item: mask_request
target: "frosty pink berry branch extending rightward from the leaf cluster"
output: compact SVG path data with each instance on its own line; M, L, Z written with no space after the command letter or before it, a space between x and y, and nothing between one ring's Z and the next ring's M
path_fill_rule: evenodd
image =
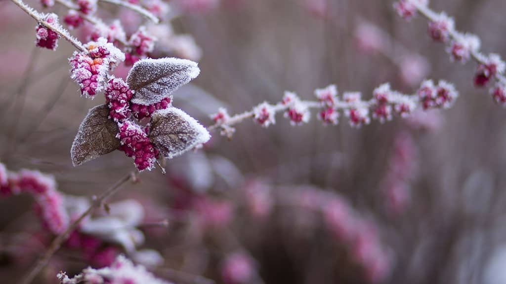
M437 85L431 80L424 81L411 95L392 90L390 84L385 83L374 89L372 98L367 101L362 100L360 92L345 92L340 99L335 85L316 89L314 94L317 101L303 101L296 93L286 91L283 100L275 105L264 102L250 111L234 116L222 108L211 116L215 124L208 129L220 128L221 134L230 138L235 131L233 126L243 120L252 118L268 127L276 122L275 115L279 112L284 113L290 124L300 125L309 122L310 109L318 110L318 119L325 125L338 124L342 112L351 126L360 127L369 124L371 116L383 123L392 120L394 114L407 117L417 108L449 108L458 97L453 85L443 80Z

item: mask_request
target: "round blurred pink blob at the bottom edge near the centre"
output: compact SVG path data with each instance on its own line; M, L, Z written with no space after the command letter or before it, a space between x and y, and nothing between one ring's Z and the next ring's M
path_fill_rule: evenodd
M223 281L227 284L247 283L255 274L255 264L242 252L233 253L222 265Z

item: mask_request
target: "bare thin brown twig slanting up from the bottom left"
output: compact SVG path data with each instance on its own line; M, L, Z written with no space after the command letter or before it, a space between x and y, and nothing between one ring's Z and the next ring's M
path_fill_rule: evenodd
M74 231L77 226L79 226L80 222L85 219L88 215L90 215L92 212L94 212L96 209L100 208L102 204L112 195L114 195L120 188L121 185L125 184L128 181L135 181L137 178L137 173L129 173L128 175L123 176L120 180L118 180L113 186L109 187L108 190L106 190L102 195L95 198L90 205L90 207L83 212L79 218L77 218L75 221L73 221L68 228L58 235L47 251L44 253L44 255L37 261L35 266L30 270L30 272L24 277L19 283L20 284L30 284L35 276L40 272L40 270L44 269L46 265L48 265L49 260L51 257L60 249L60 246L62 245L65 240L67 240L69 234Z

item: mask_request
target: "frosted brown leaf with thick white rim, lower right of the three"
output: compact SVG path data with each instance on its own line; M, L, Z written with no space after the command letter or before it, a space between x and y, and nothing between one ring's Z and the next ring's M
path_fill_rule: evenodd
M179 156L210 137L205 127L180 109L159 110L151 117L149 140L166 158Z

